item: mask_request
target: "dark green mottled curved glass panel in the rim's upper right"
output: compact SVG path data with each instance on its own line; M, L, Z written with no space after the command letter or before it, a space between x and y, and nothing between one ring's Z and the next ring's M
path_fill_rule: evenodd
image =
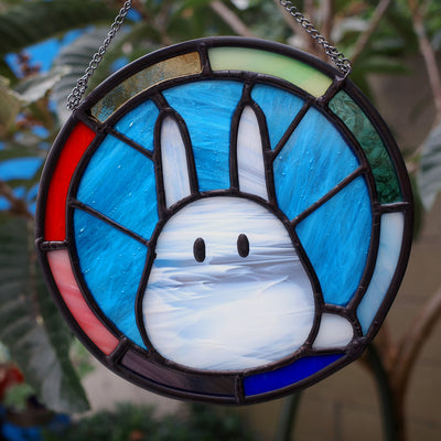
M367 116L345 92L335 95L330 101L330 109L343 120L362 146L374 174L379 202L390 204L402 201L392 161Z

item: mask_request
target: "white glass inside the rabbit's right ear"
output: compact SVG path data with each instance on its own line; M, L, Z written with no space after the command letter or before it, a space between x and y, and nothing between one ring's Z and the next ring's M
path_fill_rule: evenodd
M244 107L237 130L237 174L239 190L268 201L263 147L256 112Z

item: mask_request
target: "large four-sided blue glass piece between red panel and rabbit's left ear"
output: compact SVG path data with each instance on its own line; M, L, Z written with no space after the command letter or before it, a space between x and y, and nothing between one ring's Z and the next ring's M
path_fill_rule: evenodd
M149 239L158 223L153 162L107 136L83 174L77 198Z

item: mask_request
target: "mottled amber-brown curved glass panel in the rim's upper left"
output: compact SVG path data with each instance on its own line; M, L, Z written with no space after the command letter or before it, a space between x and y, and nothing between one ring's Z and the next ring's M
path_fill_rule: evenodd
M126 101L141 92L168 79L200 74L201 72L202 63L197 52L164 60L138 72L116 86L92 108L92 115L104 121Z

